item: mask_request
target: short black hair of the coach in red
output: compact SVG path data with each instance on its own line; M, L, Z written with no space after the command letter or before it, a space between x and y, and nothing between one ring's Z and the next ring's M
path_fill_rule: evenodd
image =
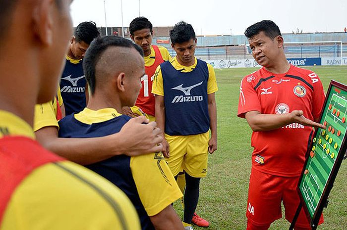
M282 36L280 28L275 24L275 22L270 20L263 20L257 22L246 29L244 35L251 39L253 36L259 34L261 31L265 33L270 39L274 39L277 36Z

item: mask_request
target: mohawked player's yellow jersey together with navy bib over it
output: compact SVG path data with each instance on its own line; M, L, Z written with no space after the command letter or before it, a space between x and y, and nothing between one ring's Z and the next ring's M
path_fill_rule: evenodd
M59 137L102 137L117 133L130 117L114 108L91 110L69 115L59 121ZM122 189L134 204L143 229L152 225L154 216L182 197L162 153L129 157L115 156L87 165ZM149 228L151 229L151 228Z

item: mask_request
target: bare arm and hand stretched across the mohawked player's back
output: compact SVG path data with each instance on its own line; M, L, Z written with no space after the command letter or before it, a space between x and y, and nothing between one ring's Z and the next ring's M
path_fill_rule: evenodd
M81 165L96 163L115 155L136 156L162 150L163 137L155 122L141 116L131 119L119 133L101 138L58 138L58 129L44 127L35 132L37 140L59 156Z

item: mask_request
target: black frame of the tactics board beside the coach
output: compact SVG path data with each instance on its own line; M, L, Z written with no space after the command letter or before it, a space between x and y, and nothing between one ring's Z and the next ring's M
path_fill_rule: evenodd
M319 117L319 121L321 121L321 119L322 119L322 116L323 116L323 113L324 113L324 109L327 106L328 97L329 97L329 95L331 93L331 89L332 89L333 86L338 88L338 89L341 89L341 90L347 92L347 86L346 85L344 85L342 83L339 83L339 82L336 82L334 80L332 80L330 82L329 89L328 89L328 92L326 94L326 99L324 101L324 105L323 105L323 108L322 108L322 113L321 113L321 115ZM318 131L318 129L315 129L313 137L316 137L317 131ZM302 168L302 172L301 172L301 176L300 176L300 179L299 179L299 183L297 185L297 191L298 191L299 197L300 197L300 205L299 205L300 209L301 209L301 206L302 206L303 209L305 210L305 213L306 213L308 219L310 220L310 224L311 224L312 230L316 230L317 226L318 226L319 219L320 219L320 217L322 215L322 212L323 212L323 208L325 208L327 206L327 200L328 200L329 193L330 193L331 189L333 188L336 176L337 176L338 171L340 169L341 163L342 163L342 161L344 159L344 155L345 155L346 150L347 150L347 144L346 144L346 136L345 136L344 139L342 140L340 151L339 151L338 155L336 156L336 162L335 162L335 164L334 164L334 166L332 168L332 172L331 172L331 174L330 174L330 176L329 176L329 178L327 180L327 184L326 184L326 186L325 186L325 188L323 190L321 199L319 200L319 203L317 205L316 211L314 212L313 217L311 218L311 216L309 214L309 211L308 211L308 208L306 206L306 203L304 201L304 198L303 198L303 196L301 194L301 191L300 191L300 184L301 184L301 181L303 179L305 168L306 168L307 162L308 162L309 157L310 157L309 153L310 153L310 149L312 148L312 143L313 143L313 141L311 141L311 143L310 143L310 145L309 145L309 147L307 149L307 152L306 152L306 160L305 160L304 167ZM296 222L295 217L294 217L293 222L294 223ZM292 226L294 226L294 223L292 223Z

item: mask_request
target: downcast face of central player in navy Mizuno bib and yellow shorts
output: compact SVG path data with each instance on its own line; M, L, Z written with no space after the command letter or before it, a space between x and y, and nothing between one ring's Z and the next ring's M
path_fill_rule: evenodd
M183 66L191 66L194 64L196 41L196 39L190 39L188 42L175 43L171 45L174 51L176 51L176 58L179 64Z

